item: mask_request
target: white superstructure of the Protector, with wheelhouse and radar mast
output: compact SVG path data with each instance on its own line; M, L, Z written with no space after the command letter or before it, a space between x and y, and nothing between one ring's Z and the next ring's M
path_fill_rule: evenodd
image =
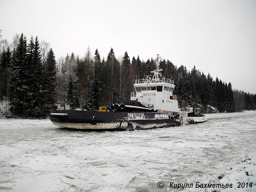
M148 103L154 105L154 108L159 112L179 113L177 96L173 95L172 92L175 88L174 81L161 77L159 65L161 57L157 54L155 63L156 70L151 71L154 73L145 76L144 79L135 80L133 84L136 92L131 93L131 100L140 101L141 103Z

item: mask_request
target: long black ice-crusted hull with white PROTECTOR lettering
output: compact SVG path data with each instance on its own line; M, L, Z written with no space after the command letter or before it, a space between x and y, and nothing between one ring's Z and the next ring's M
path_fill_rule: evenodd
M99 112L51 110L54 125L72 129L151 129L179 126L182 123L157 112Z

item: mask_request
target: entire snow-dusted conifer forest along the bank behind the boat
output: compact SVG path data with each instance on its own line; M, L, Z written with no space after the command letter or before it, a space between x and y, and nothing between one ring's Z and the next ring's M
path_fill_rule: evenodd
M49 109L98 110L116 99L130 99L135 79L152 75L154 59L130 59L128 52L116 57L113 48L106 58L98 49L88 47L82 58L73 52L56 60L50 43L24 34L16 35L13 43L1 40L0 100L6 102L6 116L45 117ZM173 94L180 106L213 106L220 112L256 109L256 94L233 90L223 82L194 66L176 67L162 60L165 78L174 80Z

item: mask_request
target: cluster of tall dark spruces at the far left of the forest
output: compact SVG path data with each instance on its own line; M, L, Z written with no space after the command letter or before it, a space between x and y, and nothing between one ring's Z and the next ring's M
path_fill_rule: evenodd
M41 117L55 105L55 56L50 49L42 60L37 36L27 43L21 34L12 51L3 47L0 68L0 96L7 98L10 115Z

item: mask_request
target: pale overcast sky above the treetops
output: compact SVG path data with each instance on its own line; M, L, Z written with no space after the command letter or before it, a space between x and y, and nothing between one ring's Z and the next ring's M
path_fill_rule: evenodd
M233 89L256 93L255 0L0 0L2 39L15 34L49 42L56 60L90 46L101 58L155 58L194 65Z

